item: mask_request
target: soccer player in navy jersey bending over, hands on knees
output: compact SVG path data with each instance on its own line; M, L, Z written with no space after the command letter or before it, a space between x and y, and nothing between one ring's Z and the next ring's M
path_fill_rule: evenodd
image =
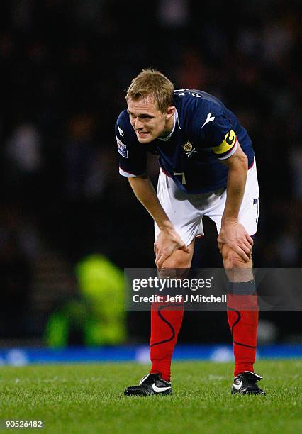
M230 287L227 313L235 355L231 391L264 394L257 385L262 377L253 369L258 308L252 235L259 189L250 137L216 97L174 90L155 69L143 69L133 79L126 101L128 109L116 122L119 170L155 221L157 269L189 269L194 240L203 235L203 216L216 223ZM147 176L147 152L159 155L157 194ZM242 294L243 303L238 301ZM182 318L181 304L172 310L152 306L150 374L126 388L125 395L172 394L171 360Z

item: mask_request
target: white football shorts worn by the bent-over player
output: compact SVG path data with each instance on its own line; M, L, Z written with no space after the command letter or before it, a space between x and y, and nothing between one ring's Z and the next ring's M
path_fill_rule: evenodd
M203 216L210 217L216 223L217 232L220 232L221 218L226 200L225 187L213 193L187 194L177 187L172 178L160 170L157 196L175 230L186 245L189 245L196 236L204 235ZM254 161L254 164L247 172L245 194L239 212L239 222L250 235L257 232L258 215L259 186L256 162ZM155 239L159 232L160 230L155 223Z

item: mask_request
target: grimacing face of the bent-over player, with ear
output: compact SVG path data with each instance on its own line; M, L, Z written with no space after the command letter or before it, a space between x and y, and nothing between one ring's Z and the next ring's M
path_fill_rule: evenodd
M140 143L150 143L161 135L167 135L173 128L174 111L175 108L171 106L167 112L162 113L156 104L147 98L128 101L130 123Z

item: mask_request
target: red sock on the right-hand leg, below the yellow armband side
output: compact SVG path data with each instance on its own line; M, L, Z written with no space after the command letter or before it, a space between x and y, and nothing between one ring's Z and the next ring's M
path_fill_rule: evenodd
M234 377L236 377L243 371L254 372L258 325L257 296L228 294L227 304L235 356Z

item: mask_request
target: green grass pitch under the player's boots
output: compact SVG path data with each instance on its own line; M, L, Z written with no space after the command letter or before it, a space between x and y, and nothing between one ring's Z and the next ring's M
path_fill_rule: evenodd
M43 433L302 433L301 368L259 361L267 396L233 396L233 364L174 362L174 395L138 398L123 390L146 365L1 367L0 419L42 420Z

